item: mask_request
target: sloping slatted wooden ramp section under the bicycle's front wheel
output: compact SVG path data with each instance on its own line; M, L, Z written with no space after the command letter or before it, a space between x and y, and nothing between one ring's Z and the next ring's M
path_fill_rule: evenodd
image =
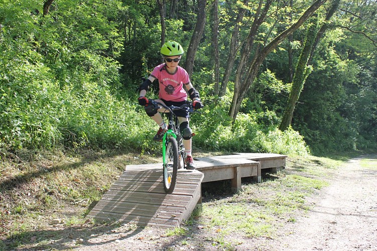
M178 226L201 200L203 176L196 170L179 170L174 192L166 194L162 164L127 166L87 217L144 226Z

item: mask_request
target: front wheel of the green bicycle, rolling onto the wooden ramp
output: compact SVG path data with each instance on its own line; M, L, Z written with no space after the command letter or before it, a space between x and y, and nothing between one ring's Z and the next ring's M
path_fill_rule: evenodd
M177 172L179 164L179 153L177 140L173 137L166 139L168 141L163 166L163 183L166 193L172 193L177 182Z

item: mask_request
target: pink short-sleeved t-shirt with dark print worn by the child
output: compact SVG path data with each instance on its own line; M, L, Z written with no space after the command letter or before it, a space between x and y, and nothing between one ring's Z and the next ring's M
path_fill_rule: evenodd
M165 68L165 64L160 64L152 71L152 76L159 80L159 97L167 101L184 101L187 93L183 89L184 84L190 83L190 78L185 69L177 66L177 71L170 74Z

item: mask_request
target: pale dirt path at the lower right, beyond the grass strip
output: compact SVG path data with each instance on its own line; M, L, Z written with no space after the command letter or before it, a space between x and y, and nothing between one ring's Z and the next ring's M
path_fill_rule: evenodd
M267 249L377 250L376 160L363 156L339 169L315 208Z

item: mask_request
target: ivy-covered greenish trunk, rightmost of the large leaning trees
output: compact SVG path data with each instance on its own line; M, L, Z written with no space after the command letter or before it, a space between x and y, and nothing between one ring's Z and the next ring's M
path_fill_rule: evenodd
M287 130L287 128L291 124L296 102L300 97L300 93L304 87L305 80L311 72L312 68L309 67L307 63L309 60L312 46L314 44L316 28L317 18L314 18L306 33L305 45L302 49L299 61L296 66L295 76L293 77L292 89L289 94L287 107L285 109L283 119L279 127L281 131Z

